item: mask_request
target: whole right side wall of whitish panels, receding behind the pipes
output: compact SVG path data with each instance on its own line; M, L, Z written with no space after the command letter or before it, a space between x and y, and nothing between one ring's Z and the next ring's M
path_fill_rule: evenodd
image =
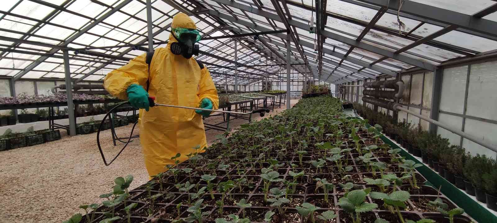
M473 63L444 68L442 72L442 88L440 90L440 107L438 120L455 129L474 135L481 140L497 145L497 94L493 87L497 85L495 77L497 61ZM382 76L377 80L395 79L392 76ZM409 110L429 117L431 113L433 72L416 71L402 73L400 76L405 83L404 94L400 103ZM371 78L350 81L346 85L362 85L363 81L375 81ZM359 95L356 97L357 89ZM362 102L362 86L346 86L344 98L358 102L370 108L372 104ZM387 89L388 90L388 89ZM388 99L387 99L388 100ZM393 100L391 100L393 101ZM394 112L378 107L378 112L393 115ZM423 130L428 130L428 122L406 112L398 112L398 121L406 121L412 125L420 124ZM473 155L485 154L497 157L497 153L484 148L472 141L445 129L437 128L437 133L449 139L452 145L461 146Z

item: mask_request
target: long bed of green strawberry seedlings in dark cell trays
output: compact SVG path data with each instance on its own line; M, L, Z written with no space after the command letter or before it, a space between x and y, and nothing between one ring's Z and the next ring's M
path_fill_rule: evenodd
M358 128L353 132L353 128L361 127L363 123L341 116L341 111L338 99L309 98L299 101L281 116L244 125L206 152L195 155L195 159L171 166L161 176L132 190L127 203L138 204L131 213L132 222L186 221L197 207L205 212L200 217L202 223L214 223L218 218L224 219L218 221L231 221L233 216L230 215L248 218L250 222L264 222L268 212L275 213L269 218L272 223L309 223L310 215L315 216L316 222L323 223L318 216L326 211L336 214L332 222L351 223L351 215L341 204L342 198L366 191L361 201L376 206L361 213L362 223L374 223L378 218L398 223L399 216L413 221L429 217L439 223L448 223L442 214L433 212L435 209L426 208L426 204L438 198L448 208L457 206L437 189L425 185L426 179L415 167L407 167L409 162L402 161L398 150L388 148L378 139L378 131ZM333 154L343 156L332 159ZM339 162L350 167L340 169ZM383 163L385 167L382 171L372 171L371 163ZM294 178L296 173L301 176ZM387 181L383 186L372 183L386 175L404 178ZM239 183L243 181L246 182ZM223 186L231 184L233 187ZM192 186L187 189L188 185ZM324 185L330 186L328 193ZM212 190L200 193L203 187L212 187ZM280 192L287 189L288 193L279 194L278 189ZM384 206L384 199L377 199L377 196L381 194L379 192L390 196L394 191L407 193L407 197L401 201L405 207L392 214L391 206ZM192 198L197 193L198 197ZM158 197L152 202L154 195ZM278 196L288 199L281 203L281 208L264 198ZM241 204L243 199L250 205ZM316 210L310 212L313 214L302 214L301 209L308 205ZM115 210L123 207L121 204ZM109 208L103 206L97 209L95 221L103 219L103 212L107 210ZM126 216L122 211L117 215ZM470 222L465 216L457 218L459 223ZM126 220L120 221L124 222Z

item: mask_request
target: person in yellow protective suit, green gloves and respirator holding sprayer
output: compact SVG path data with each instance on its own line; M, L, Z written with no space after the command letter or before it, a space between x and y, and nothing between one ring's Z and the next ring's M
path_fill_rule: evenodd
M147 54L143 54L105 76L104 87L110 94L141 108L140 144L151 177L166 171L167 164L174 164L170 158L176 153L181 153L178 159L184 161L195 151L193 148L207 147L202 116L208 116L209 111L149 108L148 101L150 95L160 104L218 109L219 99L209 71L192 58L192 54L198 54L194 43L200 40L196 29L186 14L176 14L169 42L155 50L150 73Z

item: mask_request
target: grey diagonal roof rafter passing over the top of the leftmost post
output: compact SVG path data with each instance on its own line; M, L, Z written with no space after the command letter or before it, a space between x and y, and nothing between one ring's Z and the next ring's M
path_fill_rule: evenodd
M73 42L75 39L77 39L78 37L80 37L81 35L83 35L84 33L86 33L88 30L90 30L91 28L95 27L98 23L100 23L104 19L106 19L109 16L111 16L112 14L114 14L114 12L116 12L116 11L120 10L122 7L126 6L131 1L132 0L124 0L120 4L116 5L110 11L108 11L107 13L105 13L102 16L98 17L93 23L90 23L89 25L87 25L86 27L84 27L83 29L81 29L79 32L77 32L74 35L72 35L71 37L69 37L61 45L67 46L68 44L70 44L71 42ZM55 54L57 51L59 51L59 49L53 49L53 50L51 50L49 52L49 54ZM41 64L42 62L44 62L48 58L49 57L47 57L47 56L40 57L40 59L36 60L36 62L33 62L26 69L24 69L24 71L22 71L22 72L20 72L20 73L18 73L16 75L14 75L13 81L18 80L19 78L21 78L22 76L24 76L25 74L27 74L28 72L30 72L31 70L33 70L36 66L38 66L39 64Z

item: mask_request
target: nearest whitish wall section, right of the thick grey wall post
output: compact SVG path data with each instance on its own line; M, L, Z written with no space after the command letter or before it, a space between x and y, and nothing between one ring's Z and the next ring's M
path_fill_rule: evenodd
M439 121L497 145L497 61L445 68ZM442 128L437 133L473 155L497 153Z

